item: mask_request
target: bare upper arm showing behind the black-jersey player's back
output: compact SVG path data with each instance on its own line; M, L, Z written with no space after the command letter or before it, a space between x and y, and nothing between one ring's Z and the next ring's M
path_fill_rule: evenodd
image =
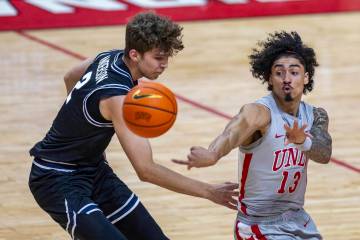
M77 81L84 75L86 69L90 66L90 64L94 61L94 58L88 58L82 61L80 64L76 65L72 69L70 69L64 76L64 82L66 87L66 92L69 94L71 90L74 88Z

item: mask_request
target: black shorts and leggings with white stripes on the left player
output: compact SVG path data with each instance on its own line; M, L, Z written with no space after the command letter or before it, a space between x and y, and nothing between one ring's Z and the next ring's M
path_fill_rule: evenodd
M29 187L73 239L168 239L106 161L77 167L35 158Z

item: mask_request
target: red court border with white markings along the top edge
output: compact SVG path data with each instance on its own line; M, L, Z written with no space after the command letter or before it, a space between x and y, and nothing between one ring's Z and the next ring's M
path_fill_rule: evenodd
M124 24L153 10L177 21L359 11L359 0L3 0L0 30Z

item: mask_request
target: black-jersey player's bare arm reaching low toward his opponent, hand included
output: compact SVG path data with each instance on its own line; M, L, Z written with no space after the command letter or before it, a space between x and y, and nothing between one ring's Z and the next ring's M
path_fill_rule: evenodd
M207 184L185 177L153 161L152 150L146 138L132 133L125 125L122 116L124 96L102 100L102 115L113 122L116 135L127 157L142 181L147 181L169 190L191 196L206 198L214 203L236 210L238 184Z

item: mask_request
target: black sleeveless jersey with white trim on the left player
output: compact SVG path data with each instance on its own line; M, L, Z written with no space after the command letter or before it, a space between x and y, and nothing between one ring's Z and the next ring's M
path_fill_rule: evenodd
M96 164L115 133L99 102L126 95L137 82L122 60L123 51L100 53L68 95L45 138L30 155L76 165Z

